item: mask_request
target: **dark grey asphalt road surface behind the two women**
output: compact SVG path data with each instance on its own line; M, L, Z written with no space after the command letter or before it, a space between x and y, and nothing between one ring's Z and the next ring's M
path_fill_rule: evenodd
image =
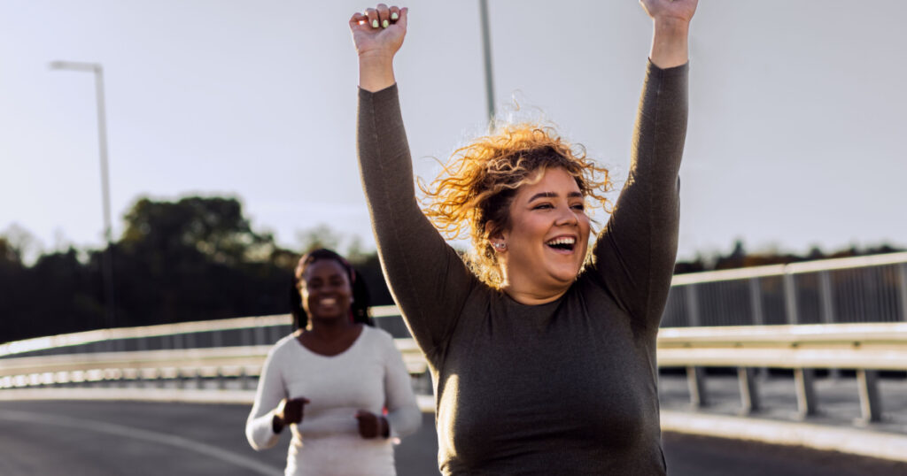
M255 452L245 405L0 403L0 475L280 474L289 438ZM907 475L907 463L752 442L664 435L673 476ZM396 448L400 476L438 474L434 415Z

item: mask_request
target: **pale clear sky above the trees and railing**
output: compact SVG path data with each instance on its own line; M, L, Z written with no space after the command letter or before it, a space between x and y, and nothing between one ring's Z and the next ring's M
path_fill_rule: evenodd
M636 2L490 0L501 117L555 124L618 179L649 53ZM396 78L414 170L487 126L478 1L412 0ZM140 197L241 199L299 246L374 246L356 165L347 0L0 0L0 233L102 246L102 63L113 233ZM907 246L907 3L702 0L691 25L678 257ZM607 219L600 214L598 219ZM40 246L41 248L38 248Z

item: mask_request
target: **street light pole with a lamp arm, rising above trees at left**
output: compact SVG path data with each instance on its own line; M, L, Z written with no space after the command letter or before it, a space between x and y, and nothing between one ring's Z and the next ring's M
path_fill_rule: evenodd
M101 195L104 215L104 238L107 249L102 259L104 299L107 301L107 326L116 325L116 293L113 281L113 231L111 224L111 190L107 166L107 116L104 104L104 70L99 63L54 61L53 70L83 71L94 73L94 91L98 105L98 151L101 155Z

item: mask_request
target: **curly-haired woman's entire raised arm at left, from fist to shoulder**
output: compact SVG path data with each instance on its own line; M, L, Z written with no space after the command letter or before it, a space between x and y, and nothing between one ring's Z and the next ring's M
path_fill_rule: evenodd
M356 148L387 284L416 342L434 364L477 280L415 199L393 68L406 16L405 8L378 5L350 19L359 53Z

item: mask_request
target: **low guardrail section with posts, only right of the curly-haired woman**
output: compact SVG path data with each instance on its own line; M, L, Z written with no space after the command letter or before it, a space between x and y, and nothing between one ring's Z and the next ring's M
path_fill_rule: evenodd
M878 371L907 370L907 323L664 328L658 366L687 369L696 406L708 403L703 367L736 367L744 413L761 406L756 368L792 369L802 416L818 413L814 369L855 370L863 421L879 422Z

